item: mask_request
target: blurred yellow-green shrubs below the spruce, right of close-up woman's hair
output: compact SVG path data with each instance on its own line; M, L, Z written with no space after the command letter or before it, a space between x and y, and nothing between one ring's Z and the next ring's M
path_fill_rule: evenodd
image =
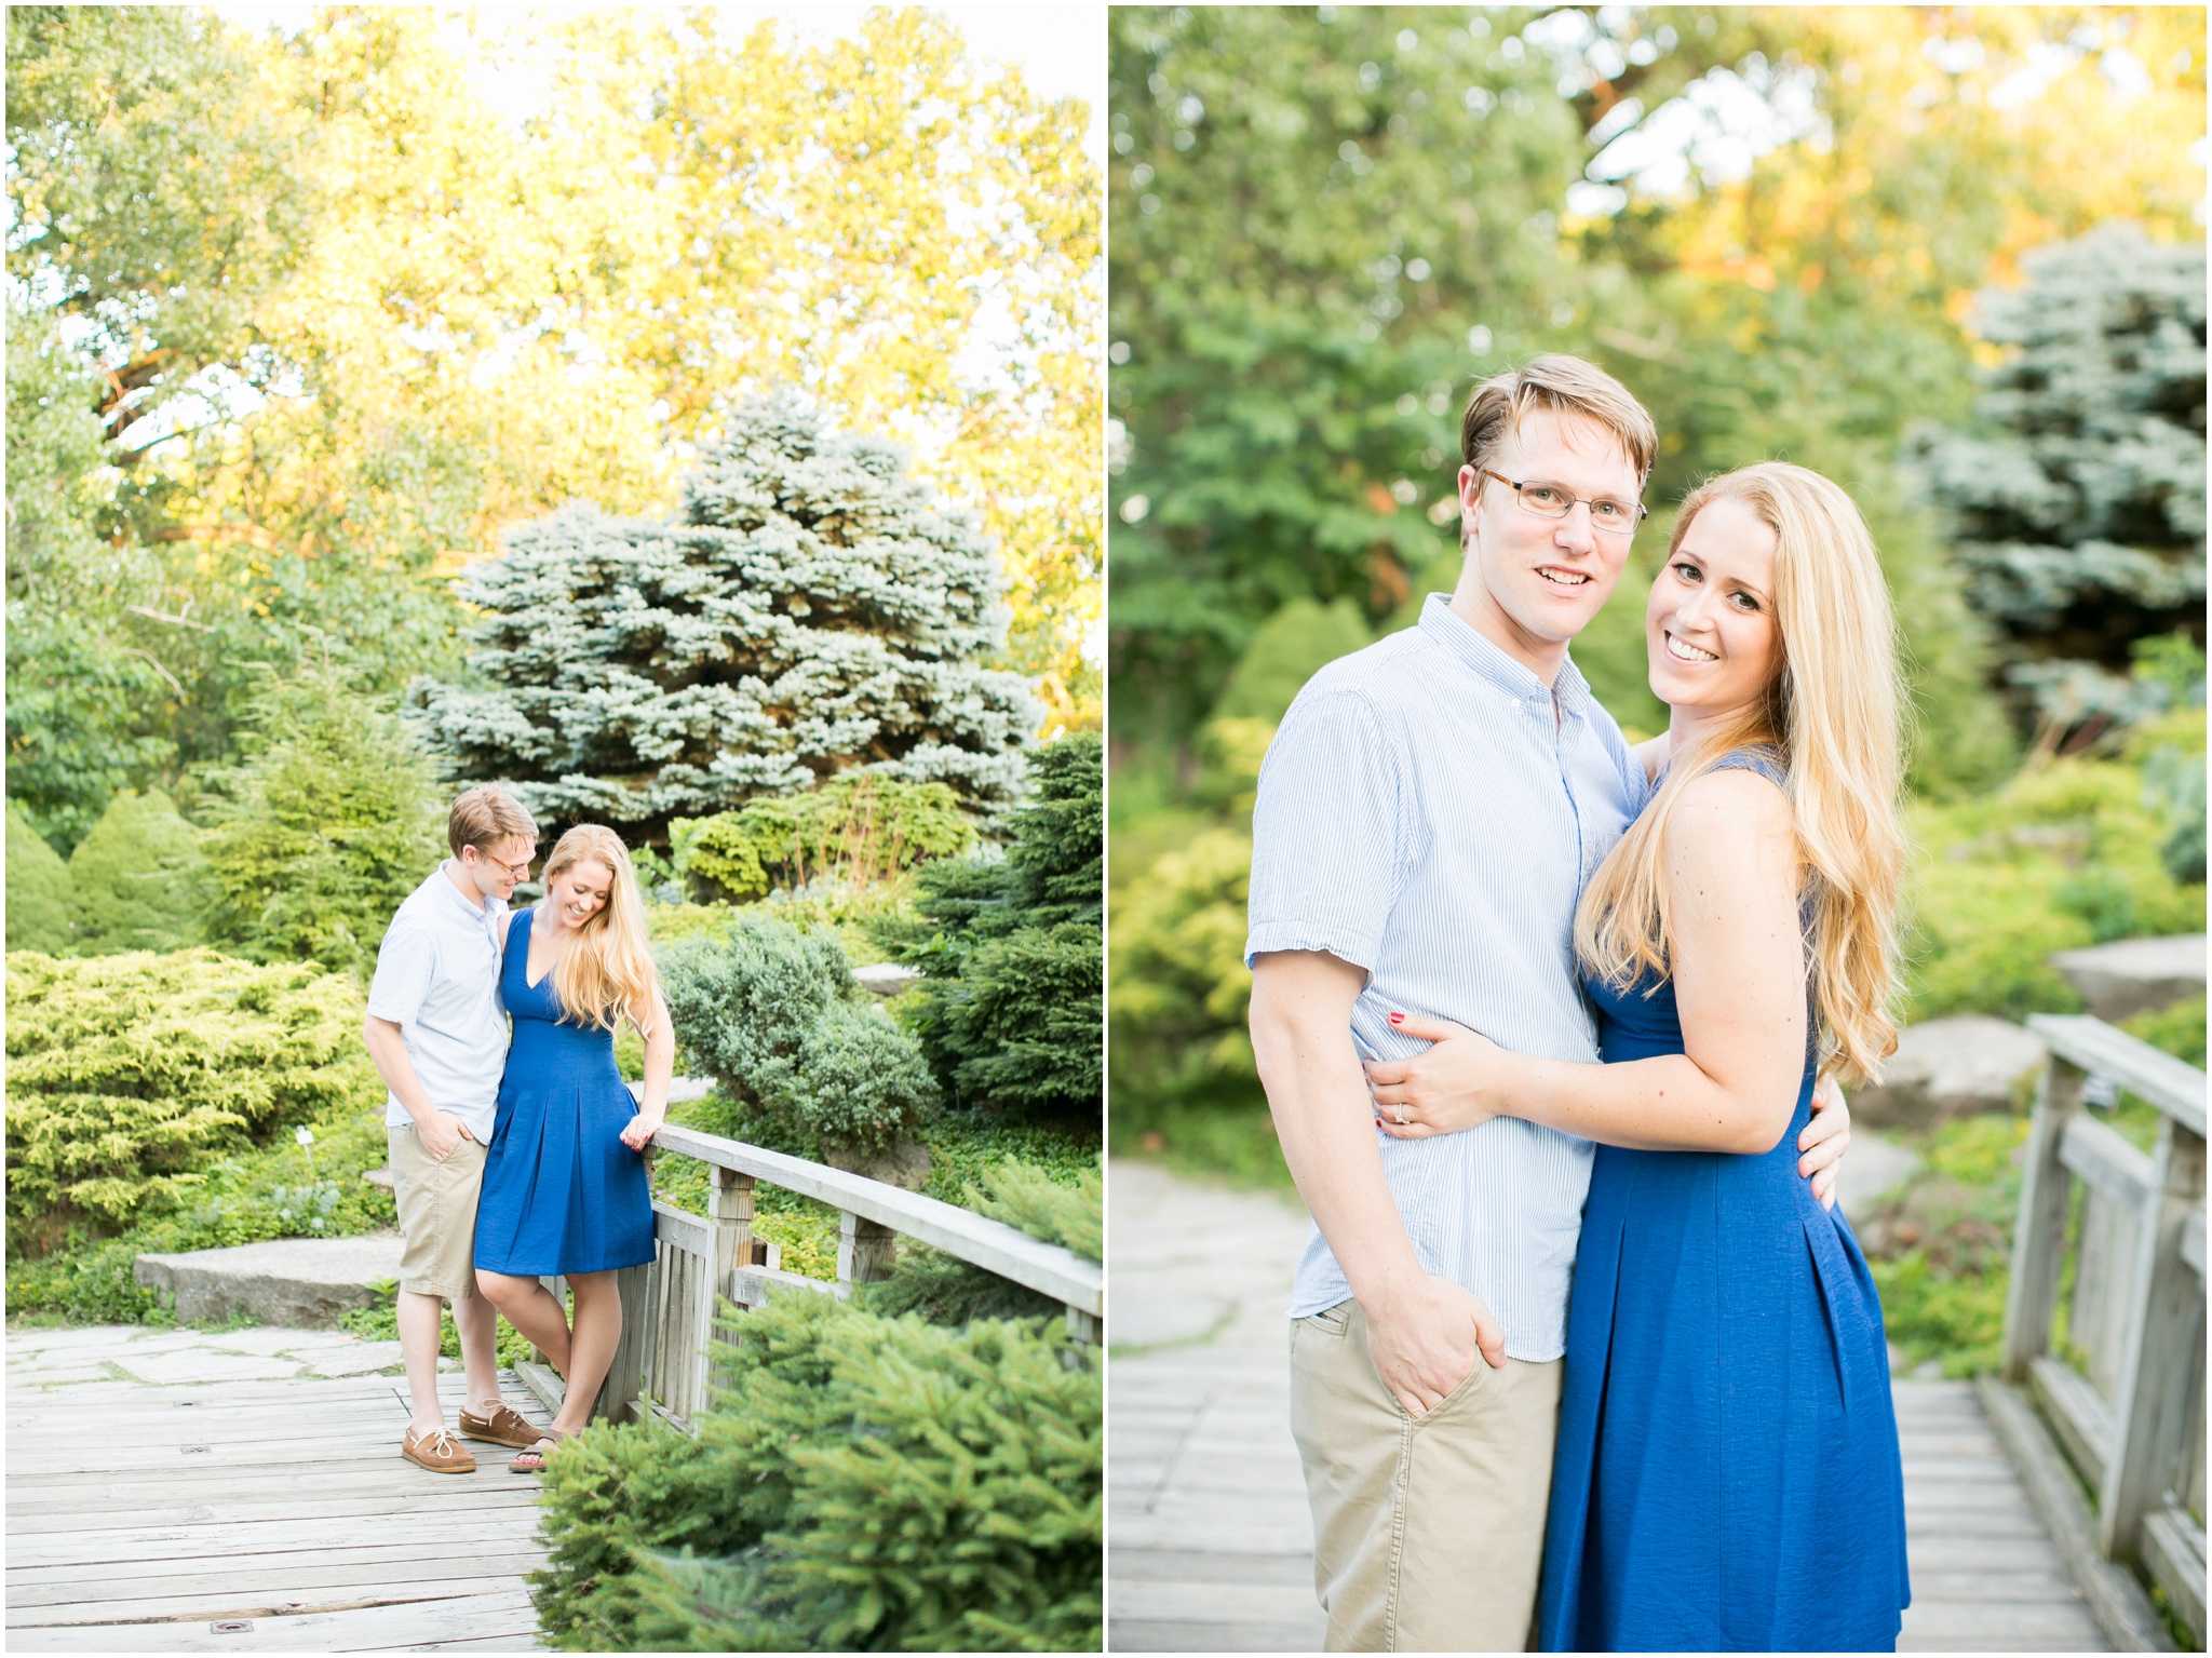
M2203 710L2143 736L2201 754ZM2168 836L2126 758L2053 760L1982 798L1920 805L1907 1017L2073 1012L2081 999L2051 968L2053 951L2201 931L2203 886L2166 869Z

